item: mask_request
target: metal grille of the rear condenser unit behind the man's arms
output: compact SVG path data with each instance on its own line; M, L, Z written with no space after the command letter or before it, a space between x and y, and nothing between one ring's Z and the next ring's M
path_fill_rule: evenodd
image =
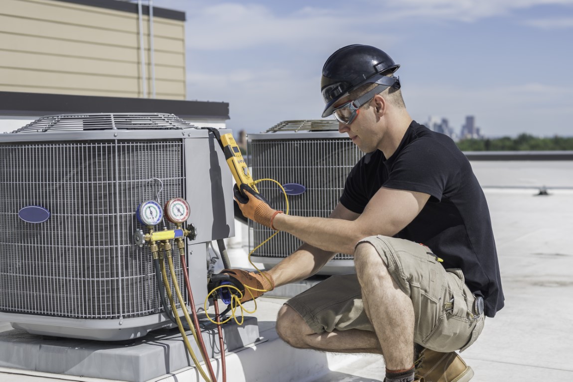
M328 217L335 208L346 176L363 155L350 140L342 137L282 140L269 137L251 140L248 151L254 179L270 178L280 184L304 185L307 190L303 194L289 197L290 213L317 217ZM261 182L257 188L274 208L285 210L284 196L273 182ZM253 233L249 237L249 250L274 232L252 221L249 228ZM253 256L286 257L301 244L291 234L279 232ZM338 253L334 260L352 258L350 254Z

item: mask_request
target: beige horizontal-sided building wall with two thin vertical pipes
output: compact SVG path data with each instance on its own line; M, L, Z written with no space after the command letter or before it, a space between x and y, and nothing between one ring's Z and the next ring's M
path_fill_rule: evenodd
M147 2L144 2L147 3ZM57 0L1 0L0 91L151 97L149 17ZM185 100L184 21L154 16L155 97Z

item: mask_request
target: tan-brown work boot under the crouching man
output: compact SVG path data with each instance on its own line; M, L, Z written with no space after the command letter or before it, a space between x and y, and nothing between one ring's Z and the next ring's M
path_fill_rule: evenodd
M425 382L468 382L473 370L456 352L440 353L423 349L415 361L415 378Z

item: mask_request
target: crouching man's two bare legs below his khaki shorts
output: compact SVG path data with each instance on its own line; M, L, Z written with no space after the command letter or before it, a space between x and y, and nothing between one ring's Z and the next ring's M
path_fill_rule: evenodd
M375 332L350 329L316 334L299 313L283 305L278 313L278 335L297 348L383 353L388 369L409 369L414 360L412 302L394 282L386 264L372 245L359 244L354 258L364 309Z

